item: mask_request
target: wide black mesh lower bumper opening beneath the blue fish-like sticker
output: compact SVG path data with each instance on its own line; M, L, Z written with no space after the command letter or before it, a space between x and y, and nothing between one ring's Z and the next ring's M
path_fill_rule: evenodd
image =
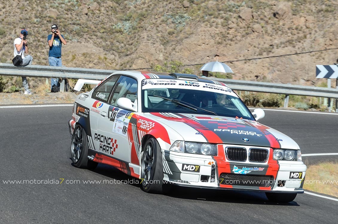
M273 176L267 175L243 175L221 173L219 175L220 184L239 185L251 187L271 187L274 182Z

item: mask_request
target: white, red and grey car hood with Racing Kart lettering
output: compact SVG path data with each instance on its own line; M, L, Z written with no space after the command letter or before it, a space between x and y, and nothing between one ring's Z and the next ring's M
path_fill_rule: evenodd
M253 120L177 113L150 113L149 116L169 126L185 141L299 149L287 135Z

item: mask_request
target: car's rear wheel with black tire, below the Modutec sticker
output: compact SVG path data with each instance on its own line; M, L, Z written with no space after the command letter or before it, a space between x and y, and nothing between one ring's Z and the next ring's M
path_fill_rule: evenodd
M83 169L95 169L97 166L97 162L88 160L88 139L86 131L81 127L81 125L77 124L75 126L73 135L72 135L72 143L70 147L70 154L73 165L78 168Z

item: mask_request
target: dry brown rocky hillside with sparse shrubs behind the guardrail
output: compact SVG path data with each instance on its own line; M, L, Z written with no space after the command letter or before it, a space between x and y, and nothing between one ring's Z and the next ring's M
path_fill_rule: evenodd
M10 63L21 27L33 64L48 65L47 35L67 40L63 64L102 69L233 61L338 47L333 0L0 1L0 61ZM227 63L234 79L314 85L316 64L337 50ZM190 66L200 74L201 66ZM151 69L148 69L151 70Z

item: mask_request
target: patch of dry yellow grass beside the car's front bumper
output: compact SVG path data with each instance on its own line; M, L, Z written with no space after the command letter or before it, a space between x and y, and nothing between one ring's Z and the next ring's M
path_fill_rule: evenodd
M325 162L308 167L304 189L338 197L338 163Z

